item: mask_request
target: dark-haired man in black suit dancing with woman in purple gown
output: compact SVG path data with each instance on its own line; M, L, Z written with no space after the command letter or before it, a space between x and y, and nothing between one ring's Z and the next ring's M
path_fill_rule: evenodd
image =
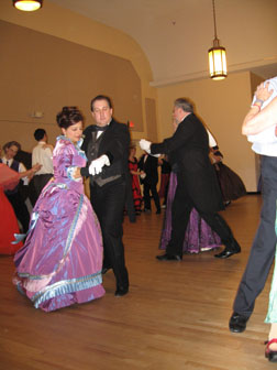
M109 97L97 96L91 100L90 108L97 124L91 124L84 131L82 149L89 166L81 168L81 175L90 175L90 202L103 236L103 273L113 269L117 280L115 296L122 296L129 292L122 224L125 202L132 192L128 167L130 132L126 124L112 118ZM132 207L133 200L128 207L133 221Z

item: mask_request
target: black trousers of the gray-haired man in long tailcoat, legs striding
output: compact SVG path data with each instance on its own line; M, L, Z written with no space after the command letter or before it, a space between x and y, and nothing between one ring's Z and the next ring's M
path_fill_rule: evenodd
M168 254L182 254L182 242L193 207L196 208L182 184L178 184L171 208L171 238L166 248ZM211 229L220 236L222 243L231 248L234 237L226 221L215 211L203 211L201 209L197 209L197 211Z

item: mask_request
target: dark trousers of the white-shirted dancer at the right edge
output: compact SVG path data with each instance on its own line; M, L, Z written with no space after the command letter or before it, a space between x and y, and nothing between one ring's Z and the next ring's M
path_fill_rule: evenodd
M276 251L277 157L262 156L263 207L248 262L234 301L234 312L250 317L263 291Z

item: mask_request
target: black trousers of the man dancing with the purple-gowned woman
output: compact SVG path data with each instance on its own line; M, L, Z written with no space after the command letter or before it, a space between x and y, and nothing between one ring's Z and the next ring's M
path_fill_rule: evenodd
M126 184L124 179L103 186L90 185L90 202L99 219L103 237L103 268L112 268L117 287L129 286L123 237L123 211Z

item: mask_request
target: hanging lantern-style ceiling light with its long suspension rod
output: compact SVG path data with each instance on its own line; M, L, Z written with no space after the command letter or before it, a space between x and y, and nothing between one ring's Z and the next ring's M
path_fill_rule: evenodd
M223 79L226 77L226 51L225 47L220 46L220 41L217 34L215 23L215 8L214 0L212 0L213 7L213 24L214 24L214 40L213 47L209 48L209 70L212 79Z

